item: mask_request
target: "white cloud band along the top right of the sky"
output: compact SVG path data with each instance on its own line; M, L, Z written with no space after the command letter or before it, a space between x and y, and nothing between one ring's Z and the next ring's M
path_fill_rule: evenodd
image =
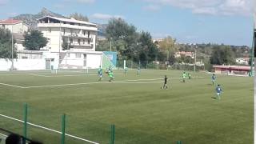
M175 6L194 14L242 15L253 14L253 0L142 0L150 6ZM143 7L143 9L145 9Z

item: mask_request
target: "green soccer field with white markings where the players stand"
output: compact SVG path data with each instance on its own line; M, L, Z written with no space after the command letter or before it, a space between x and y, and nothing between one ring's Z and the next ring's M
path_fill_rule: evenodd
M222 98L214 99L211 75L190 73L181 82L179 70L114 71L98 82L97 70L24 71L0 73L0 114L98 143L184 144L253 143L254 79L217 75ZM164 75L171 88L162 90ZM0 116L0 127L22 134L22 122ZM60 134L28 126L27 135L44 143L60 143ZM90 143L66 137L66 143Z

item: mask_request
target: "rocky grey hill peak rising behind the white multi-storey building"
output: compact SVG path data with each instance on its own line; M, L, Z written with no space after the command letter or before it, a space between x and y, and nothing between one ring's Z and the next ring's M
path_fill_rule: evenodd
M50 10L47 10L46 8L42 8L42 10L38 14L20 14L14 17L14 19L24 21L27 25L30 26L30 29L37 29L37 19L45 16L66 18L61 14L56 14Z

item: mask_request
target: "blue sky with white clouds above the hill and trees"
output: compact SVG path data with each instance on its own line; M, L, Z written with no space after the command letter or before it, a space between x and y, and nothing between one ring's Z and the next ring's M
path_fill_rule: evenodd
M43 7L90 22L123 18L153 38L171 36L182 43L252 46L254 0L0 0L0 19L38 14Z

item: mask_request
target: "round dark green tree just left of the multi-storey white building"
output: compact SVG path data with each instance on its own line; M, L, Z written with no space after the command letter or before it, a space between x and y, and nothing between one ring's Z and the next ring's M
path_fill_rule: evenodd
M42 33L38 30L31 30L30 33L26 32L24 35L25 41L22 43L26 50L40 50L40 48L46 46L47 38L42 36Z

